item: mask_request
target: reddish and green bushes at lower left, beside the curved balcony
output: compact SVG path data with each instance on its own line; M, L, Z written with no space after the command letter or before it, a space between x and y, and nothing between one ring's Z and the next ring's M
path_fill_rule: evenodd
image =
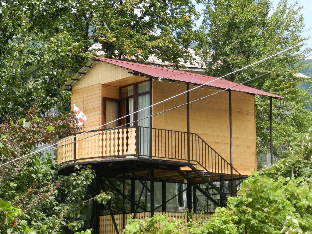
M18 121L8 117L0 124L2 162L32 152L37 143L55 142L64 134L80 131L73 113L59 118L40 118L37 114L31 109ZM60 176L51 154L33 154L2 165L0 197L14 207L15 216L12 221L8 211L1 212L0 233L23 233L17 227L24 230L26 226L38 234L83 230L88 224L84 199L94 176L90 167L76 167L69 176ZM108 197L102 194L99 199L105 202Z

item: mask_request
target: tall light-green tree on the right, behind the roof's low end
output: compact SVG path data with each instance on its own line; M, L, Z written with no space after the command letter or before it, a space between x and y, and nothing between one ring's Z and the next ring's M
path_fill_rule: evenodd
M207 0L201 31L204 37L198 49L207 66L207 74L223 76L248 64L304 41L299 32L304 26L300 7L281 0L272 11L270 0ZM304 52L308 52L305 50ZM300 46L265 62L236 72L225 79L246 81L303 57ZM285 99L273 100L273 154L284 157L285 150L296 147L312 122L311 96L298 87L310 79L298 78L296 64L246 83L275 93ZM266 153L269 146L269 99L256 97L257 150Z

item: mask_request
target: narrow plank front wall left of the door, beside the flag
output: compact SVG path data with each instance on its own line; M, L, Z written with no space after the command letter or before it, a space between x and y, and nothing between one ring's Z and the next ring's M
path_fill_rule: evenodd
M91 70L90 70L91 71ZM83 111L87 120L83 125L84 131L101 125L102 95L101 84L91 85L85 88L72 90L71 108L75 104Z

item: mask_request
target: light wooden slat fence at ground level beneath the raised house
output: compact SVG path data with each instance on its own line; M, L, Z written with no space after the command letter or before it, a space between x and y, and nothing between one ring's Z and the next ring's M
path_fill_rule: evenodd
M156 214L168 215L169 221L171 222L173 218L178 220L184 220L187 222L186 213L182 212L155 212ZM144 220L146 217L150 217L150 212L138 212L136 214L136 219ZM133 216L132 214L125 214L125 223L127 222L129 216ZM192 213L192 218L198 219L199 217L208 218L210 214L198 214ZM115 222L118 228L119 234L122 233L122 214L114 215ZM115 234L115 227L110 215L102 215L100 216L100 234Z

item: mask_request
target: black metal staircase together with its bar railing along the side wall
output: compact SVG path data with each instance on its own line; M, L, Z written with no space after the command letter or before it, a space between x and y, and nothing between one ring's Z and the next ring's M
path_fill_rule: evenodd
M243 179L235 168L208 145L198 134L139 127L142 135L151 138L151 154L140 156L184 162L177 172L207 198L208 210L225 206L228 196L236 196ZM150 132L151 131L151 132ZM150 143L149 143L150 144ZM149 148L149 147L146 147ZM146 152L144 150L144 152Z

